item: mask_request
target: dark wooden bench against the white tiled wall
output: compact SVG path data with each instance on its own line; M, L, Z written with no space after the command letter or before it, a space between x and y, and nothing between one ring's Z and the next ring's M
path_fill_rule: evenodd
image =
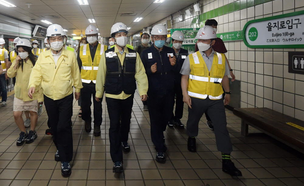
M304 121L269 108L235 108L233 114L242 119L241 134L248 135L248 125L304 153L304 131L286 124L304 127Z

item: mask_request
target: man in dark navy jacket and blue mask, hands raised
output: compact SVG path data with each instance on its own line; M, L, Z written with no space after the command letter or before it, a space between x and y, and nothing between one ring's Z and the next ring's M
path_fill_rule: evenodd
M172 116L174 101L175 52L173 48L164 46L167 39L167 28L158 24L152 28L153 45L144 50L141 60L148 77L148 105L151 125L151 139L155 145L156 161L164 162L164 131Z

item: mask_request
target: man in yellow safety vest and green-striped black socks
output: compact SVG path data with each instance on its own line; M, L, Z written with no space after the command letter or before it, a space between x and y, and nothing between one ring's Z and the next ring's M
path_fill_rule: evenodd
M230 160L232 144L224 107L230 101L230 71L225 55L212 49L216 38L216 31L211 26L200 28L195 37L199 51L186 57L180 72L183 101L187 103L189 112L188 151L196 152L199 121L207 111L213 121L217 149L222 152L222 170L231 176L242 176ZM223 89L226 92L224 100Z

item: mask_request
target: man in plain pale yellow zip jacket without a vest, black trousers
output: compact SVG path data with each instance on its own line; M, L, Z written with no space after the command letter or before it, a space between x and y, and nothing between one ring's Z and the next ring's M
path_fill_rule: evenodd
M61 174L70 175L73 157L71 117L73 115L73 86L75 99L80 96L81 77L72 51L63 48L64 31L60 25L47 28L47 41L51 50L40 54L29 78L29 97L35 88L43 88L44 104L52 126L55 160L61 161Z

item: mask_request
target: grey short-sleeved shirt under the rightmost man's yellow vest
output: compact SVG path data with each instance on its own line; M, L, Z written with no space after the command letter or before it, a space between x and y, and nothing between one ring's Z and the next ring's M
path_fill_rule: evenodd
M211 55L208 56L208 57L202 51L200 51L199 53L202 55L202 57L203 57L203 59L204 59L204 61L206 63L206 66L208 68L208 71L210 71L211 67L212 67L212 63L213 63L213 56L214 56L214 54L216 54L216 52L214 50L212 50ZM229 71L227 60L225 59L225 61L226 62L225 62L225 74L224 75L230 75L230 71ZM181 67L181 72L180 73L182 75L190 75L190 71L191 71L191 69L190 69L190 60L189 60L189 56L187 56L186 59L185 59L185 61L184 61L183 66Z

